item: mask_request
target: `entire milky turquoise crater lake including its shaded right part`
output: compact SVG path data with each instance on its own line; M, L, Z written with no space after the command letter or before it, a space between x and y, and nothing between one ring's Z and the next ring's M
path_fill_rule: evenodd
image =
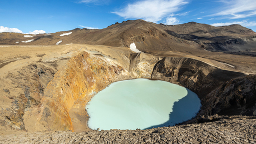
M93 130L144 130L189 120L200 106L188 88L139 78L112 83L92 97L86 110Z

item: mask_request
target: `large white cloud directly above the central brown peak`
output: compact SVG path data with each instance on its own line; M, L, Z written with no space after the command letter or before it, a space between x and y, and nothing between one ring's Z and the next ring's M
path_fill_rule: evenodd
M135 18L157 22L168 17L171 13L178 12L181 6L187 3L188 0L141 0L130 3L125 8L112 13L125 19Z

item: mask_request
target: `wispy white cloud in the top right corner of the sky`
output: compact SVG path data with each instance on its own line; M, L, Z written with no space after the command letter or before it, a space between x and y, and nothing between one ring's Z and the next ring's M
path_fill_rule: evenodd
M256 1L255 0L221 0L227 4L223 7L223 11L212 14L211 16L229 16L229 19L246 18L256 15Z

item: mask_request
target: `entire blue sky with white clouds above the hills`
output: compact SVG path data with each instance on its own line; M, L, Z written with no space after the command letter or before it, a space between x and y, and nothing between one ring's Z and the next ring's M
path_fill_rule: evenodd
M241 24L256 31L256 0L2 0L0 32L53 33L115 22Z

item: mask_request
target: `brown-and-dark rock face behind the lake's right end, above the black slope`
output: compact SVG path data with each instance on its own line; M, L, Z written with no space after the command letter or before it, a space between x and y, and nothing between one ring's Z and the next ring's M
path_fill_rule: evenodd
M191 58L163 58L152 72L151 78L177 83L203 98L220 84L243 73L225 71Z

